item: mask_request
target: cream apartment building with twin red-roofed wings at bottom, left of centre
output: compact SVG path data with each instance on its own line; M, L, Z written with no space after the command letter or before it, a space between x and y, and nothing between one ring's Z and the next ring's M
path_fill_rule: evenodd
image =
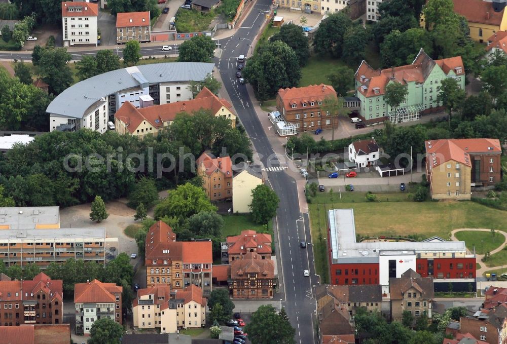
M133 317L134 327L160 328L161 333L201 327L206 324L206 298L193 284L184 290L158 285L140 289L133 302Z

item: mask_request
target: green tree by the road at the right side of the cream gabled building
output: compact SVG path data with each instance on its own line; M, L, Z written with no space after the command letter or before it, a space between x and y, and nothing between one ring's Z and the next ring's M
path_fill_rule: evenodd
M267 224L276 215L279 202L278 196L268 185L256 186L252 190L252 203L248 205L253 221Z

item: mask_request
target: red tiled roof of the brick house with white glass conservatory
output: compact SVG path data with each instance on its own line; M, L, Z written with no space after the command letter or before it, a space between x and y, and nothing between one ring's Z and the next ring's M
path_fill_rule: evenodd
M285 109L292 108L292 104L296 104L297 108L303 108L303 103L307 103L305 108L315 108L317 104L315 104L315 106L311 106L310 103L312 101L314 103L324 101L327 97L337 99L333 86L324 84L285 89L281 88L278 90L278 95L280 96Z

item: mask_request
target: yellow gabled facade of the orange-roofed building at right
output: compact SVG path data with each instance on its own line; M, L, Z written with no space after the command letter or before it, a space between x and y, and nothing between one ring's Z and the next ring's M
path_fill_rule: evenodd
M428 170L431 198L434 200L469 200L472 168L449 160Z

